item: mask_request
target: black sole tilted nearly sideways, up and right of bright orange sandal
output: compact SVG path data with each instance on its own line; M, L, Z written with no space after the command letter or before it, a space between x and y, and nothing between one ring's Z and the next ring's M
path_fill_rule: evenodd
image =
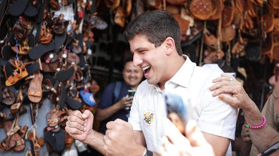
M54 43L50 42L49 44L39 44L30 49L28 55L31 60L37 60L41 58L44 54L52 51L54 49Z

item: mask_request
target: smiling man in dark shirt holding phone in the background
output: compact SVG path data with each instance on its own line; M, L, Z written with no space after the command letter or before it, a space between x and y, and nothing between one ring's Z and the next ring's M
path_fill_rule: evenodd
M102 93L96 110L95 119L101 122L99 131L103 134L105 134L107 122L114 121L117 118L128 121L133 101L133 96L127 97L128 90L136 90L143 77L141 68L133 65L133 58L126 59L122 74L124 82L108 84ZM117 97L114 97L117 88L119 88L118 94Z

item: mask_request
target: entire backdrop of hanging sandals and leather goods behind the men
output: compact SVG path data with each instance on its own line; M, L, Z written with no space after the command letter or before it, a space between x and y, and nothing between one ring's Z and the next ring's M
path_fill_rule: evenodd
M155 9L176 18L182 47L194 45L201 66L221 61L228 71L231 59L279 61L279 0L0 0L0 153L66 155L78 148L64 128L73 110L96 104L99 86L88 61L93 32L124 28Z

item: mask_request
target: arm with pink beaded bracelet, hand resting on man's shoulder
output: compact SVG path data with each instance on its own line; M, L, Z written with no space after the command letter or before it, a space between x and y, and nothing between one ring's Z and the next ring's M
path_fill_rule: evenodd
M228 81L232 78L232 81ZM215 90L213 96L219 96L220 99L230 105L243 109L246 122L251 126L259 126L263 123L263 117L256 104L244 90L242 84L233 77L222 74L221 77L213 80L218 82L210 90ZM230 94L229 94L230 93ZM279 134L268 124L259 129L249 129L252 142L259 152L279 141Z

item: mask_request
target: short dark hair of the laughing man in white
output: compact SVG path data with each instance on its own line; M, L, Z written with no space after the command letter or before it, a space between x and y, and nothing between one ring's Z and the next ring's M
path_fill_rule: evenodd
M144 35L155 47L162 45L167 37L172 37L177 53L181 56L181 30L175 18L165 10L154 10L142 13L131 21L125 31L126 40L132 40L136 35Z

